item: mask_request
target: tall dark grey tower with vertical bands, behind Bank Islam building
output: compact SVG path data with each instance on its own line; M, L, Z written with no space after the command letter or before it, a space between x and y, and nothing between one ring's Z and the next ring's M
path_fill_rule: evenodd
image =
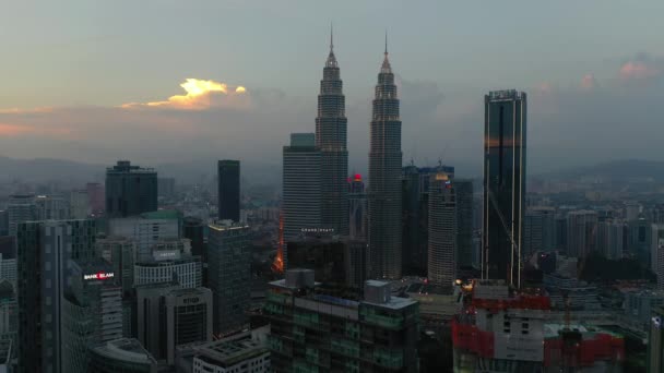
M93 260L93 220L17 226L20 372L62 371L62 299L69 260Z

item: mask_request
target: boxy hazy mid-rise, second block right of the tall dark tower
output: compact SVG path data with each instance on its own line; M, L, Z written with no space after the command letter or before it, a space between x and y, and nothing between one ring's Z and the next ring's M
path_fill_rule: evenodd
M583 258L596 250L597 213L580 209L567 214L567 255Z

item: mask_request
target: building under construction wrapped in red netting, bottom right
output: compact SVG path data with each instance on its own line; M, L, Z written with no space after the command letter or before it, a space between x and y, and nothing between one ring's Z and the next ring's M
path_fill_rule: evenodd
M476 280L451 323L454 372L622 372L621 336L554 322L550 300Z

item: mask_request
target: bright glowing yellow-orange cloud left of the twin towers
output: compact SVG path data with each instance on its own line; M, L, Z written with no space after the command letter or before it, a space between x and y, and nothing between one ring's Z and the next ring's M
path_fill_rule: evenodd
M185 83L180 84L180 87L187 92L186 95L170 96L166 101L123 104L121 105L121 108L130 109L138 107L158 107L185 110L202 110L212 106L211 96L213 94L236 96L242 95L247 92L247 88L241 85L230 88L225 83L203 81L193 77L187 79Z

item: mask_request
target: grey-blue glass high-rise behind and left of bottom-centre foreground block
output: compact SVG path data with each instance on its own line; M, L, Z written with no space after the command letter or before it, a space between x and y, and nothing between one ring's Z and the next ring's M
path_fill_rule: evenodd
M251 300L251 231L244 225L211 224L208 285L214 303L214 333L241 330Z

